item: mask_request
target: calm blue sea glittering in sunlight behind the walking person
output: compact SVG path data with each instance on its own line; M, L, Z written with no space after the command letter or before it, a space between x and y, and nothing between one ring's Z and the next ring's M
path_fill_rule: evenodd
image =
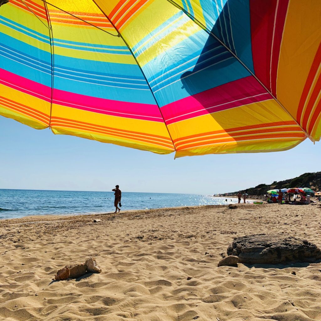
M122 210L220 205L236 199L194 194L122 192ZM115 211L114 192L0 189L0 219L43 214L85 214Z

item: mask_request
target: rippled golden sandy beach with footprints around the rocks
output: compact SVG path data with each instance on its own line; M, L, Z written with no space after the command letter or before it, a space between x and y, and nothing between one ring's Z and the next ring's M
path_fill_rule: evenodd
M236 236L284 232L321 247L320 223L317 204L2 220L0 320L321 320L321 263L217 267ZM91 256L100 274L53 280Z

